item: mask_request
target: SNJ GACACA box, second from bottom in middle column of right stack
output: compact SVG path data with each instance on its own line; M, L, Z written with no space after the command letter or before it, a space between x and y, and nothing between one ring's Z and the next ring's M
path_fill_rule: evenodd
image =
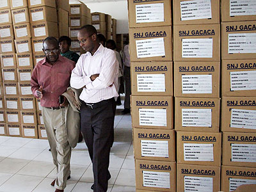
M177 163L220 166L221 133L178 131Z

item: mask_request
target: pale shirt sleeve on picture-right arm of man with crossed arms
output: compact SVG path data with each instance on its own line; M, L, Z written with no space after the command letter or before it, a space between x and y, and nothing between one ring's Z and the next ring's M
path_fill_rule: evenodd
M100 69L99 77L97 77L91 83L86 84L88 90L100 90L109 87L114 83L116 77L118 77L119 66L116 60L115 52L111 52L109 56L106 56L105 60L102 61L103 65Z

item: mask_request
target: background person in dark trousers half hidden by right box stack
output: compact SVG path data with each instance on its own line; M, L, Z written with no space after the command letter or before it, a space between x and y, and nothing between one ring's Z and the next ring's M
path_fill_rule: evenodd
M131 58L130 58L130 54L129 54L129 40L127 40L127 42L125 42L123 61L124 61L125 100L124 100L124 110L122 111L122 114L127 114L127 113L130 113L130 111L131 111L131 106L130 106Z

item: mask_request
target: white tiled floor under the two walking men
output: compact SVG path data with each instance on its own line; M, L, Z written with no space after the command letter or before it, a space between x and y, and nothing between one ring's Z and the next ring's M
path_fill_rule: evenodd
M122 101L123 102L123 101ZM111 149L108 191L135 191L131 115L121 115L118 106L115 118L115 143ZM54 191L50 183L55 177L47 140L0 136L0 192ZM65 192L90 192L92 163L84 142L72 150L71 179Z

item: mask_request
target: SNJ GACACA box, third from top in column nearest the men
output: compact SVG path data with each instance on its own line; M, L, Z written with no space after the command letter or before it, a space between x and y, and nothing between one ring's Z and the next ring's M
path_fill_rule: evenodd
M132 62L132 95L173 96L172 62Z

